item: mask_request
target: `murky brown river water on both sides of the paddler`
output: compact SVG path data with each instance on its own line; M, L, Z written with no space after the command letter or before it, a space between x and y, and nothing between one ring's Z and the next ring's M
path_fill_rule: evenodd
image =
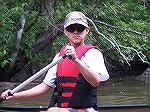
M134 76L116 75L110 77L106 82L102 82L98 87L98 103L100 105L150 105L150 83L136 80ZM0 82L0 91L13 88L17 84ZM37 83L29 84L30 88ZM34 91L36 92L36 91ZM50 101L50 94L45 94L38 98L19 101L3 101L0 106L47 106Z

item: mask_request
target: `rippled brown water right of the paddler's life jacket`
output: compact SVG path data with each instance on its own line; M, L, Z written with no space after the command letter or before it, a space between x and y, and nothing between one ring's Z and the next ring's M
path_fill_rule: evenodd
M133 77L116 76L101 83L100 104L150 104L150 85Z

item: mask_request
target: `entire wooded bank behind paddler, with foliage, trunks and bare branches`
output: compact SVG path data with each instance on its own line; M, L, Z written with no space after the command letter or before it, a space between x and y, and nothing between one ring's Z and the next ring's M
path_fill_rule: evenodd
M63 18L73 10L89 19L86 43L102 49L109 72L141 71L150 65L148 0L22 0L0 4L0 81L33 75L67 43ZM131 73L132 74L132 73Z

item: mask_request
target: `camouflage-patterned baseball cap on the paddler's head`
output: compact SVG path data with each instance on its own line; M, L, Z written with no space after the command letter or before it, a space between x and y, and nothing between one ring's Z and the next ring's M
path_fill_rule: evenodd
M65 22L64 22L64 29L67 26L72 25L72 24L81 24L89 28L86 16L82 12L78 12L78 11L70 12L66 16Z

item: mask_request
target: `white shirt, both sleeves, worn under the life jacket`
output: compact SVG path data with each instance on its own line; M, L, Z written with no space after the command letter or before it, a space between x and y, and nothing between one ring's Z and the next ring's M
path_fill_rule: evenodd
M55 62L59 57L59 53L56 54L56 56L53 59L53 62ZM102 53L98 49L89 49L82 57L81 61L85 63L85 65L99 73L100 81L106 81L109 79L109 74L106 69L106 66L104 64L104 58ZM43 82L47 84L50 87L55 87L54 81L56 79L56 72L57 72L57 65L50 68L45 76L45 79Z

